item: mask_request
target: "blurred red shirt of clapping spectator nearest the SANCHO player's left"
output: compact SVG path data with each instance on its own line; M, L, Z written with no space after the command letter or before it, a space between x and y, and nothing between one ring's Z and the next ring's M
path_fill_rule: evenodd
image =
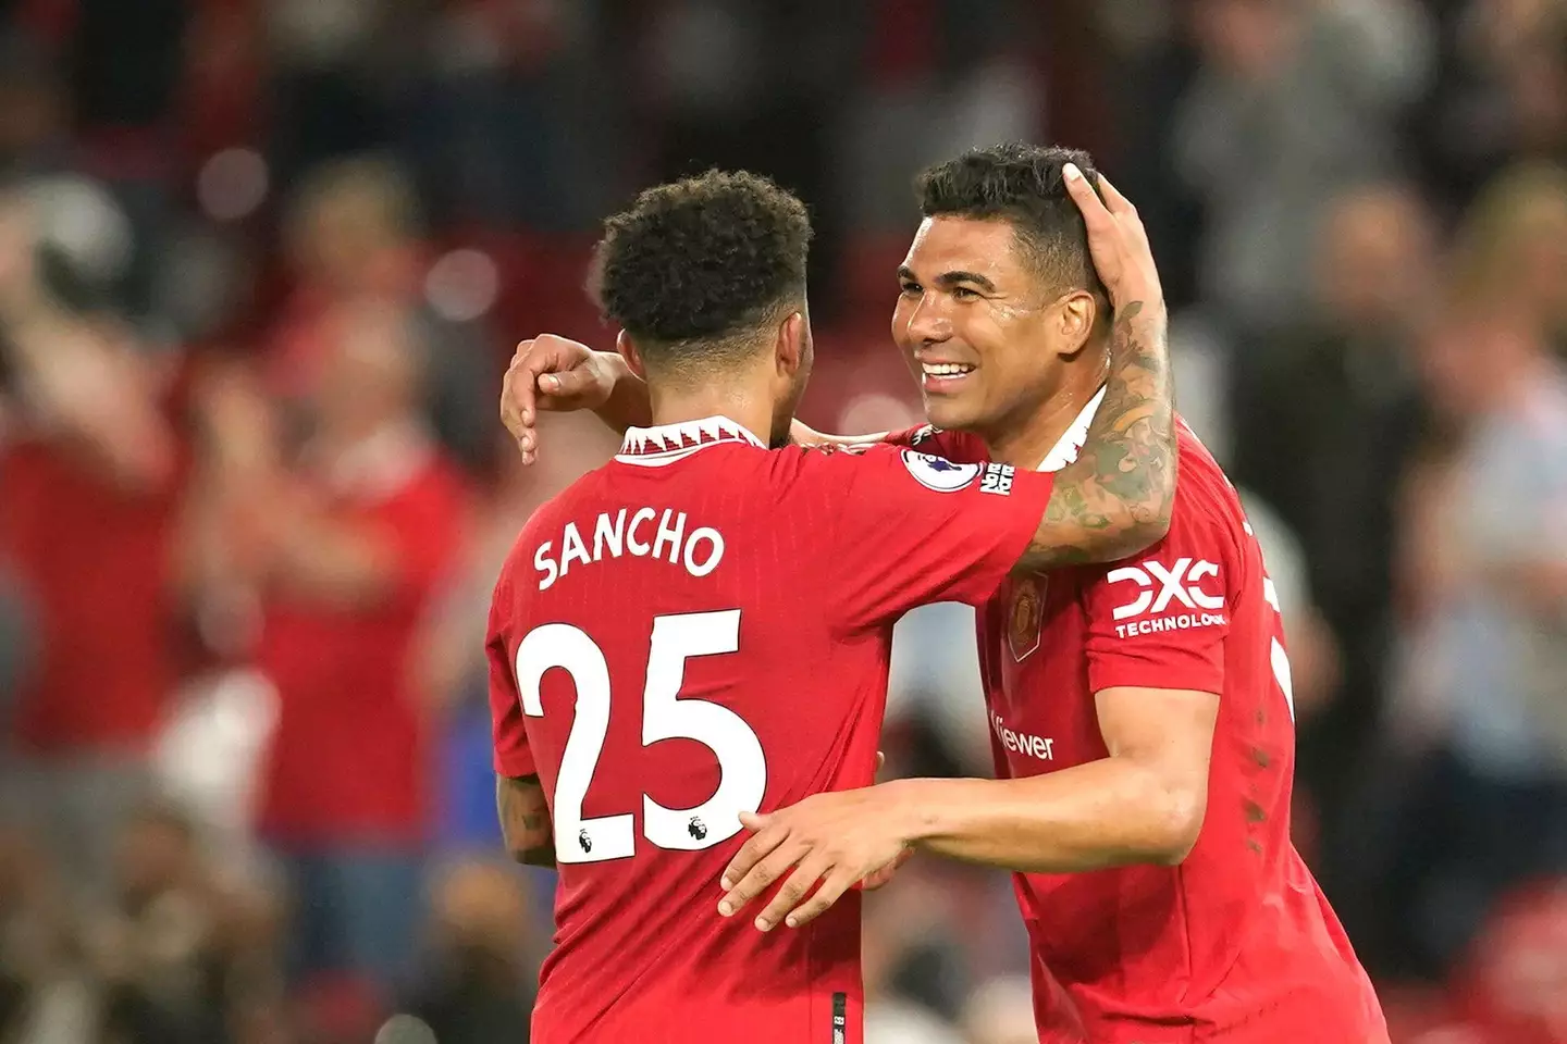
M273 841L425 839L432 765L412 651L429 595L461 549L465 509L456 468L434 452L390 491L338 495L338 520L396 548L392 592L375 607L268 606L259 664L277 687L279 717L260 826Z

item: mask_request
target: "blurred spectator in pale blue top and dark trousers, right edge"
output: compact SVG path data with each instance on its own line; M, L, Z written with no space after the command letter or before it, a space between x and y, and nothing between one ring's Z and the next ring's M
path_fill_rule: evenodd
M1429 748L1391 834L1395 947L1443 969L1496 897L1567 870L1567 371L1529 316L1459 297L1421 349L1459 438L1418 473L1395 725ZM1407 773L1407 767L1404 769Z

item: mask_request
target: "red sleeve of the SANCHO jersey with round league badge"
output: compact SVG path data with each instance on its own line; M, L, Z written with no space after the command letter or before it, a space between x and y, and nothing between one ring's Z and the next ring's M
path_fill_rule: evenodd
M981 604L1039 529L1053 477L915 449L804 454L788 496L813 521L816 573L849 629L915 606Z

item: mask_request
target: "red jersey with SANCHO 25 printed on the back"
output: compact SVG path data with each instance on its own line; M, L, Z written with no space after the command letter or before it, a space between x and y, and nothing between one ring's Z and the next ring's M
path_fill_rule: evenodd
M534 1044L862 1039L859 894L801 930L719 917L738 812L871 783L893 621L989 599L1050 487L710 418L633 429L528 520L489 653L497 770L555 823Z

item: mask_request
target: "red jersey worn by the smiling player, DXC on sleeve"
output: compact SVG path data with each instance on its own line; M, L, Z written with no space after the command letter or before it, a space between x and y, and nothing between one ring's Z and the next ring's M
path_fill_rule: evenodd
M1095 399L1047 457L1077 455ZM954 432L896 437L956 460ZM1014 578L979 614L1001 778L1108 756L1094 693L1219 693L1208 808L1177 867L1014 877L1047 1044L1373 1044L1371 983L1290 841L1294 707L1277 595L1239 498L1180 426L1171 531L1111 567Z

